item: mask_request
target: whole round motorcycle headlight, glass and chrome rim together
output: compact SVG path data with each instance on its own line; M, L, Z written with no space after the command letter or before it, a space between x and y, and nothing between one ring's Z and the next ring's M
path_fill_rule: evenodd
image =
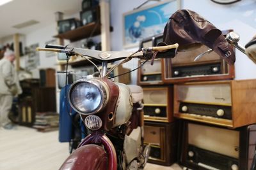
M68 96L74 110L83 115L91 115L104 107L108 90L100 80L81 79L71 85Z

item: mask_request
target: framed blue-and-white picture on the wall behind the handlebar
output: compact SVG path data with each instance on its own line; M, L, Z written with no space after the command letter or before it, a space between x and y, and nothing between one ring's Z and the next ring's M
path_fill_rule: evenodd
M180 6L180 0L167 0L124 13L124 48L138 47L141 39L162 33L168 19Z

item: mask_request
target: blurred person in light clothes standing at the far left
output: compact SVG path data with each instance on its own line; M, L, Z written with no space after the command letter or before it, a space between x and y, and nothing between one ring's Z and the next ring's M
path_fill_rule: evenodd
M14 60L14 52L7 48L3 59L0 60L0 127L2 126L4 129L13 128L8 113L12 108L13 96L22 93L19 78L13 65Z

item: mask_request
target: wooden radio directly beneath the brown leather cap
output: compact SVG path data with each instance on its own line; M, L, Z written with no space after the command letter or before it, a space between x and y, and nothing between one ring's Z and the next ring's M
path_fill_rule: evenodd
M223 31L223 34L227 33ZM228 65L216 52L205 53L194 61L196 56L207 50L209 48L202 45L195 50L178 52L174 58L163 59L164 83L233 79L234 66Z

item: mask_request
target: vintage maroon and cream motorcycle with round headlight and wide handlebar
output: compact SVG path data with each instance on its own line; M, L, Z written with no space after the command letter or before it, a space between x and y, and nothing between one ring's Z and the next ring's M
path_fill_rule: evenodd
M133 53L101 52L59 45L37 49L65 53L67 64L72 55L79 55L89 62L92 62L91 59L102 62L101 71L92 62L99 76L77 80L65 93L68 103L79 113L91 133L81 141L60 169L143 169L150 146L143 145L142 89L135 85L129 87L115 83L108 75L115 67L134 57L151 62L157 58L174 57L178 46L160 43L159 46ZM122 62L107 70L109 62L118 60Z

